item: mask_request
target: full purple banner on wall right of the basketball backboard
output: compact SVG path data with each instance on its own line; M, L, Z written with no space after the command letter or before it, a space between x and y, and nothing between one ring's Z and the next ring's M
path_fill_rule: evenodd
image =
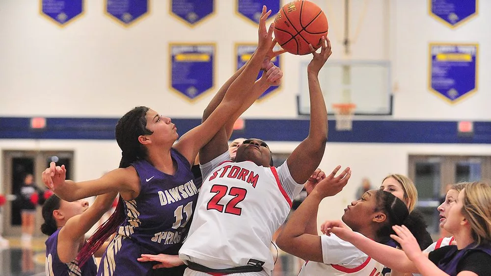
M477 44L430 44L430 90L456 102L477 90Z

